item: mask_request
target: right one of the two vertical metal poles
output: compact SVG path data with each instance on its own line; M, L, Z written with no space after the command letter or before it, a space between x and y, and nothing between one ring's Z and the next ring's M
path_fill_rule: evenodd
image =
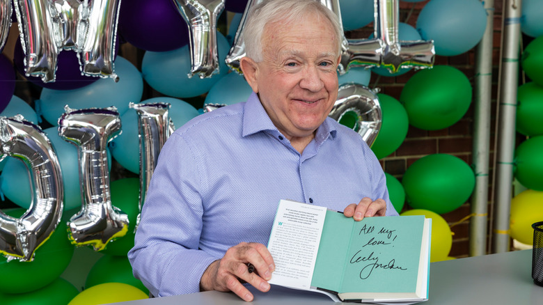
M510 250L509 221L513 182L517 86L519 81L519 42L521 33L521 0L503 1L501 68L498 95L498 128L496 141L496 183L494 198L494 253Z

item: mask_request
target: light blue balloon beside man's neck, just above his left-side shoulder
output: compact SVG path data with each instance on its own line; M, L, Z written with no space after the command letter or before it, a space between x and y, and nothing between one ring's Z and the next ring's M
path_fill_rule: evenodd
M245 102L251 93L253 93L253 89L249 86L245 77L237 72L230 72L211 87L210 92L205 97L204 105L230 105Z

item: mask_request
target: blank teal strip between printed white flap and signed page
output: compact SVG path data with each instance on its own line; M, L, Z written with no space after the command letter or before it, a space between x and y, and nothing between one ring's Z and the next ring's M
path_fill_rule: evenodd
M311 286L339 292L353 225L343 213L326 211Z

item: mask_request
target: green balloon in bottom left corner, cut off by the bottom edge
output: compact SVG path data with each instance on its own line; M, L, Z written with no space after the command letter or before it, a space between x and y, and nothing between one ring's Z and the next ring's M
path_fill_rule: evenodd
M61 305L68 304L79 290L65 279L58 278L48 286L26 293L8 294L0 292L2 304L9 305Z

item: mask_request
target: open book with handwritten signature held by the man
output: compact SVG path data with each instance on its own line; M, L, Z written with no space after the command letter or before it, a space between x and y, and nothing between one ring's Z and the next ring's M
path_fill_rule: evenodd
M336 302L426 301L431 224L423 215L354 221L282 200L268 242L276 264L269 283L322 292Z

